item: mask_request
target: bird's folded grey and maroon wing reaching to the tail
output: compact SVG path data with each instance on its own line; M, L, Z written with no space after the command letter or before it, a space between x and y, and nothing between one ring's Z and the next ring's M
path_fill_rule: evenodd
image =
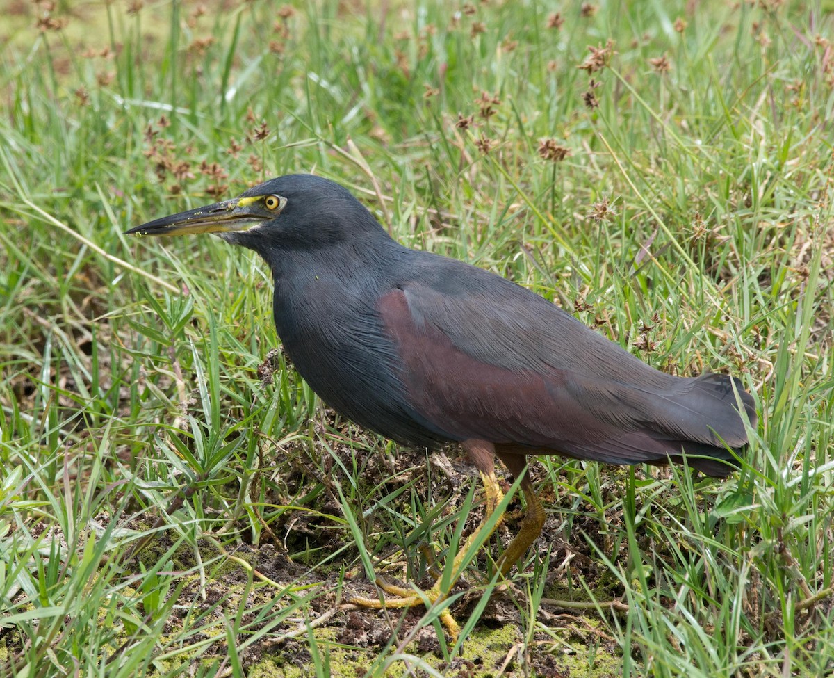
M610 463L746 443L730 377L657 372L540 296L471 271L379 300L410 404L450 437Z

